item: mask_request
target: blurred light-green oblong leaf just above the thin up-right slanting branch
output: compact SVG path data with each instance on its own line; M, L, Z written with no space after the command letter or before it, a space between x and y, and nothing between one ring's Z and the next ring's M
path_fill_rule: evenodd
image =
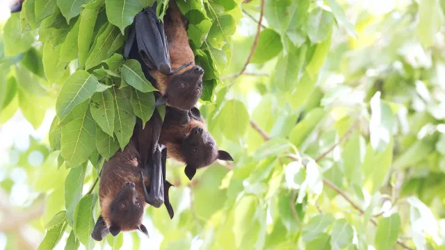
M314 108L311 110L305 118L293 128L291 135L289 135L289 140L299 148L312 131L314 131L321 119L325 117L325 114L323 108Z

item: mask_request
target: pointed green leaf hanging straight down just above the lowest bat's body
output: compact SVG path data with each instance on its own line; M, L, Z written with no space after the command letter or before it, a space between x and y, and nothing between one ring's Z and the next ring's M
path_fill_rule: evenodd
M136 116L133 115L133 108L131 107L129 88L122 90L113 87L112 93L115 103L115 119L114 119L114 133L118 137L120 148L124 147L130 141L133 134L133 128L136 124Z

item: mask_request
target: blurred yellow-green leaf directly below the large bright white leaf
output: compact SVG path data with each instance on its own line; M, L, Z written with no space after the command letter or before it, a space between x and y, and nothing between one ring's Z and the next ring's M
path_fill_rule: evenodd
M392 163L393 141L394 139L391 136L389 138L389 144L383 152L374 151L371 144L368 144L368 147L366 147L362 171L364 188L371 194L380 190L382 185L385 184Z

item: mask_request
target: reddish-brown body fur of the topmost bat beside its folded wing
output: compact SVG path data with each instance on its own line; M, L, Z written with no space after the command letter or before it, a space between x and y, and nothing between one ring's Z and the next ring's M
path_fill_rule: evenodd
M170 65L172 69L177 69L184 63L192 63L188 67L181 69L177 74L186 72L195 65L195 55L188 44L185 17L182 15L175 1L168 3L168 9L164 16L164 29L168 41L168 53L170 55ZM158 83L159 92L165 94L167 84L172 76L164 76L160 72L149 72Z

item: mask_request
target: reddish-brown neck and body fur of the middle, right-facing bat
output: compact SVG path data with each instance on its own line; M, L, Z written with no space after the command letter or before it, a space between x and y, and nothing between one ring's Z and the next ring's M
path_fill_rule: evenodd
M162 127L159 142L167 147L168 158L173 158L181 163L186 163L186 160L180 151L181 142L187 138L192 128L195 128L196 126L200 126L207 130L204 118L201 117L201 119L202 121L191 119L190 122L180 126Z

